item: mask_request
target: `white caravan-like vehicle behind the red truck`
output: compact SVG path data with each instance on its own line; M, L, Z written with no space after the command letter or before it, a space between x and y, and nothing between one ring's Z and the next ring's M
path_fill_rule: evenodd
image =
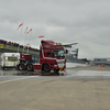
M1 68L16 68L19 64L20 53L2 53L1 54Z

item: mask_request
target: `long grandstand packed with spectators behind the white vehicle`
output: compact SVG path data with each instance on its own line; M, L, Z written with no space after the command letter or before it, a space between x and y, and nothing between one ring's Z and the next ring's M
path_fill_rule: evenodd
M25 53L32 54L33 58L40 56L40 51L31 46L23 46L18 43L8 42L6 40L0 40L0 55L1 53Z

